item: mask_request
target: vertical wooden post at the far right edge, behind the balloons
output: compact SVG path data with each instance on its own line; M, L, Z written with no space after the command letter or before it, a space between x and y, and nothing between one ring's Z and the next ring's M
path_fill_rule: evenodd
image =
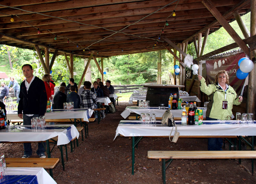
M251 0L251 30L250 30L251 36L256 35L256 0ZM252 49L250 59L252 59ZM248 95L247 95L247 112L253 113L253 119L255 119L255 94L256 94L256 63L254 59L254 69L249 73L249 82L248 82Z

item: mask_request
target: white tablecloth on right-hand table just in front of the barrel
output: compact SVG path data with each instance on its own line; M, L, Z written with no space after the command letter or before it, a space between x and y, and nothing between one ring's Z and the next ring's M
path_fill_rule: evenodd
M164 112L167 110L168 108L166 107L165 109L158 109L158 107L149 107L148 109L141 109L139 107L136 106L131 106L131 107L126 107L125 110L121 113L121 116L123 118L128 117L131 112L134 112L136 114L141 114L141 113L148 113L148 114L156 114L156 117L162 117ZM206 109L203 109L203 117L206 117ZM171 110L173 117L181 117L181 113L182 113L182 109L177 109L177 110Z

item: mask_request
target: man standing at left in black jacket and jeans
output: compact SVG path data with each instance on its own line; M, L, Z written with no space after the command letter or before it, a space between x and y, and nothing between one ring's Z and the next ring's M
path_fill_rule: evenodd
M47 104L47 95L44 82L33 75L33 68L29 64L22 66L25 81L20 84L20 101L18 105L18 116L23 118L23 125L31 125L33 117L44 116ZM23 111L23 114L22 114ZM40 158L45 158L45 143L38 143L36 153ZM31 143L24 143L24 155L28 158L32 155Z

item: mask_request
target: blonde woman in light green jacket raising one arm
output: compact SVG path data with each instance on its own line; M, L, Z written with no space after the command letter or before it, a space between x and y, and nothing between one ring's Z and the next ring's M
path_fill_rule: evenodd
M206 110L206 120L228 120L232 116L233 104L240 105L243 101L242 96L237 96L236 91L228 85L228 73L221 70L215 76L215 84L205 83L205 79L198 75L201 82L200 89L209 97ZM208 138L209 151L221 151L223 141L221 138Z

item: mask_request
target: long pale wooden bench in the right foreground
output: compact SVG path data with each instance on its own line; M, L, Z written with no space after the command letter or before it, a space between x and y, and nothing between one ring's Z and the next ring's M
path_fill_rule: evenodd
M162 160L162 182L173 159L255 159L256 151L148 151L148 159ZM165 162L165 159L169 159ZM167 166L165 166L167 164Z

